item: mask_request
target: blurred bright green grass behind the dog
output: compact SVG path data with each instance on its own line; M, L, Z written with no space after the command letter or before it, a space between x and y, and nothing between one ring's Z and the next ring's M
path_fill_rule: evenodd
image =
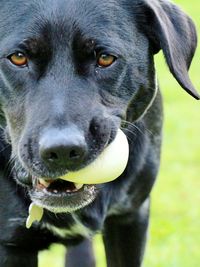
M176 0L192 16L200 35L197 0ZM190 76L200 90L200 46ZM165 124L161 170L152 193L151 223L144 267L200 266L200 103L169 74L162 55L156 58L164 96ZM101 237L95 238L98 266L105 267ZM63 267L65 250L53 246L40 254L40 267ZM81 267L81 266L80 266ZM126 266L124 266L126 267Z

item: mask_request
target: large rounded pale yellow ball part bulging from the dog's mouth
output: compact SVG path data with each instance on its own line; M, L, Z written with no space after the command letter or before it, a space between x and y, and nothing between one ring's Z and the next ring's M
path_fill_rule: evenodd
M100 184L115 180L126 168L129 145L126 135L119 129L116 138L85 168L60 177L77 184Z

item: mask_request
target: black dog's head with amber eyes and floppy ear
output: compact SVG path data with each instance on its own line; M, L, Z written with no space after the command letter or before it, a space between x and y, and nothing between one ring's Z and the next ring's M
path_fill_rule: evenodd
M16 179L50 210L95 198L95 186L58 177L98 157L130 105L132 120L142 117L156 94L160 49L199 99L188 77L195 28L168 1L8 0L0 12L0 104Z

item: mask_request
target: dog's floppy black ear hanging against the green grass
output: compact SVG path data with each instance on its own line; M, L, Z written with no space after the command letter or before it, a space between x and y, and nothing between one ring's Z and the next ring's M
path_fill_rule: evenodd
M145 23L141 28L150 39L154 53L163 50L166 62L178 83L200 99L188 75L197 35L192 20L168 0L143 0Z

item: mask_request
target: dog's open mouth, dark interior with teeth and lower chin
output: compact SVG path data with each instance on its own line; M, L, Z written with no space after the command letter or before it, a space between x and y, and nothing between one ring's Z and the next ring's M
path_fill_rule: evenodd
M77 184L62 179L32 177L30 197L51 212L73 212L89 205L97 195L95 185Z

